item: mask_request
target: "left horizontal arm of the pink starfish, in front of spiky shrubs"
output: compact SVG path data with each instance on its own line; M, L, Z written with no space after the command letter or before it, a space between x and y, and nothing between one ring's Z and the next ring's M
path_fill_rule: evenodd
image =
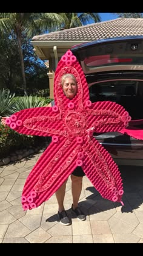
M52 134L65 134L62 130L62 120L59 113L53 112L50 107L21 110L7 118L6 124L16 132L26 135L51 136Z

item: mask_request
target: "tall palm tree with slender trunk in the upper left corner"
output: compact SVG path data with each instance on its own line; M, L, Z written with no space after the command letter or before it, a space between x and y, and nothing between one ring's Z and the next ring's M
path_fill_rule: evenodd
M24 57L22 52L22 38L30 38L45 30L54 30L63 23L63 18L58 13L0 13L0 34L14 33L18 40L21 73L23 80L24 94L26 91L26 79L24 69Z

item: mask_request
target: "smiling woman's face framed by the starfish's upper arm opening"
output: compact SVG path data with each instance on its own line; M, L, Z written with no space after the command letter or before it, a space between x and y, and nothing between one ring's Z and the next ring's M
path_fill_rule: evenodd
M62 89L67 98L73 99L77 93L78 87L75 80L73 80L71 77L67 77L62 85Z

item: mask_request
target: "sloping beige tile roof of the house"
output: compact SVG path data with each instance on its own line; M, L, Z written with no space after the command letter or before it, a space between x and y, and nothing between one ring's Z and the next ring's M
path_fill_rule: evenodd
M142 18L117 18L49 34L36 35L32 41L93 41L101 38L143 35Z

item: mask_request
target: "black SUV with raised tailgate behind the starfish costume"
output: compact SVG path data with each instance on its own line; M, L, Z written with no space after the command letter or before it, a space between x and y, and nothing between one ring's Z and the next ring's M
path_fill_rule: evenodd
M90 100L125 107L131 126L143 129L143 37L118 37L73 46L84 71ZM135 120L135 121L133 121ZM119 165L143 165L143 140L119 132L95 135Z

